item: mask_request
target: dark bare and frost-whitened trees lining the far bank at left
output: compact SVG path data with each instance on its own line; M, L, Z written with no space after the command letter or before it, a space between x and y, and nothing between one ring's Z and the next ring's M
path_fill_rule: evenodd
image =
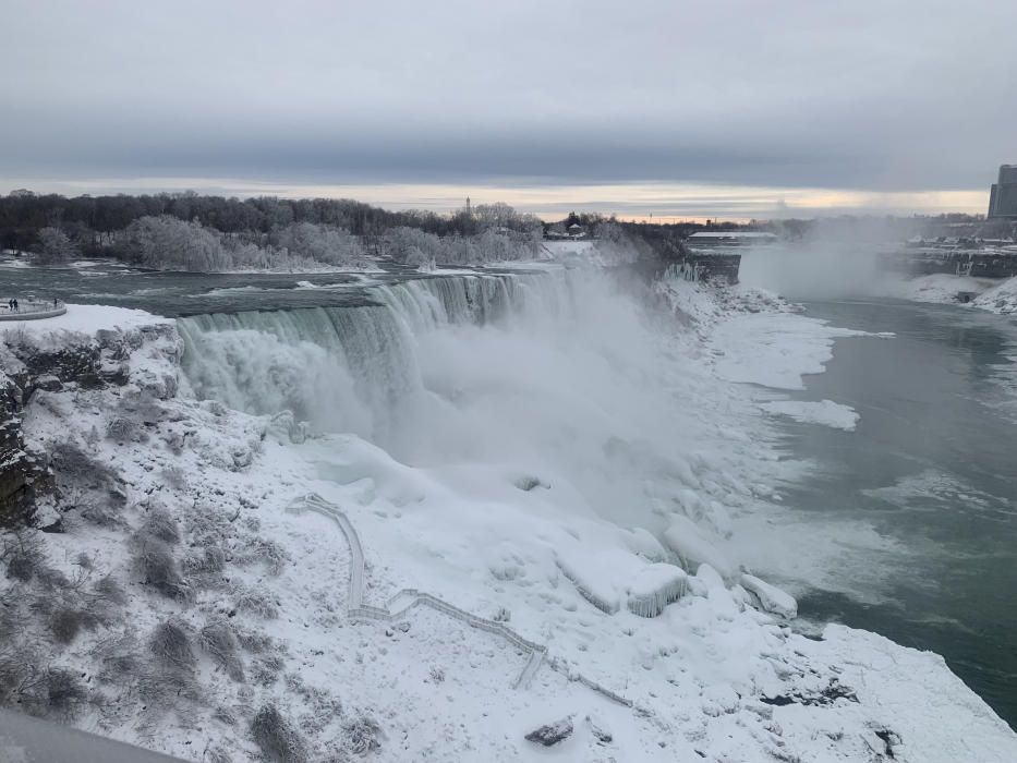
M451 215L388 210L352 199L226 198L193 192L0 196L0 245L44 264L116 256L182 270L359 267L368 256L476 264L533 256L543 223L508 204Z

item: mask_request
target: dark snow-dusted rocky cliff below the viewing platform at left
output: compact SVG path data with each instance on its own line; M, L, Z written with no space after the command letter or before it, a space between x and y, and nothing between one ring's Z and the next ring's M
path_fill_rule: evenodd
M168 366L132 370L132 352L158 341ZM177 392L177 361L182 343L171 324L128 331L101 330L95 336L64 334L38 342L32 337L0 335L0 528L48 524L56 519L39 512L59 509L50 455L26 447L21 414L38 392L122 387L133 380L159 399Z

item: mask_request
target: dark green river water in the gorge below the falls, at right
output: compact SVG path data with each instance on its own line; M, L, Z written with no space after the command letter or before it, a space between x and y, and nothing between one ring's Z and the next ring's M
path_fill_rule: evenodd
M910 302L806 306L896 338L836 340L826 372L806 377L800 399L861 417L850 433L782 424L785 447L818 463L785 500L870 523L896 547L856 560L883 574L859 574L853 595L810 590L801 615L943 655L1017 727L1017 322Z

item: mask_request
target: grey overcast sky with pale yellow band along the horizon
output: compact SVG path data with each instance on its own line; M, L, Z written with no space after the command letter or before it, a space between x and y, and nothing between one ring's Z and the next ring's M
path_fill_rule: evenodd
M0 192L982 211L1017 2L0 0Z

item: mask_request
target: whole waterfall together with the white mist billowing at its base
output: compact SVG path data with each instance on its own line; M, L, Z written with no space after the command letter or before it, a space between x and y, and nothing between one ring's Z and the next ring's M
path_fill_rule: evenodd
M645 295L603 271L415 278L367 296L180 319L193 390L290 410L404 463L535 475L572 510L625 524L746 499L739 472L759 450L731 435L743 401L717 396L676 325L659 330Z

